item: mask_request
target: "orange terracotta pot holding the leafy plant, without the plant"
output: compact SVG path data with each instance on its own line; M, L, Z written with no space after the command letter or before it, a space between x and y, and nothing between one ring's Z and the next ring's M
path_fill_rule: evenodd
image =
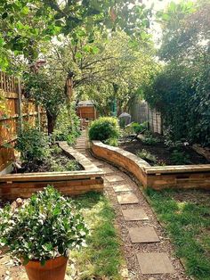
M46 260L44 266L31 260L25 266L29 280L64 280L68 258L63 256Z

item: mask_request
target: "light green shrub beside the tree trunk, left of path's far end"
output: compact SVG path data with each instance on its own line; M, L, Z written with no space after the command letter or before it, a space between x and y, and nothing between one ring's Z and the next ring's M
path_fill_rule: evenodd
M56 141L67 141L69 145L75 144L80 135L80 122L75 106L62 106L56 119L53 137Z

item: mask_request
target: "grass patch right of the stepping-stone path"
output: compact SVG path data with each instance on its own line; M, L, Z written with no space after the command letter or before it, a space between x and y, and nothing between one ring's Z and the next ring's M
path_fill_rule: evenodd
M210 279L210 193L148 189L149 202L174 243L188 275Z

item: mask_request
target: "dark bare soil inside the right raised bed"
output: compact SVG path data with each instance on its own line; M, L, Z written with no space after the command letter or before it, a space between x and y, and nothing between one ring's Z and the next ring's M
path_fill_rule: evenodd
M157 136L156 136L157 137ZM166 144L164 144L163 138L159 137L159 142L157 144L143 144L140 139L135 139L130 142L125 142L120 145L127 152L132 152L136 154L142 149L150 152L152 155L155 155L157 158L157 163L152 161L148 161L151 166L154 165L180 165L183 163L174 163L171 159L172 152L176 150L175 148L168 148ZM182 146L179 148L179 151L184 152L189 158L189 162L185 164L207 164L209 163L206 159L192 150L190 146ZM147 161L147 160L145 160Z

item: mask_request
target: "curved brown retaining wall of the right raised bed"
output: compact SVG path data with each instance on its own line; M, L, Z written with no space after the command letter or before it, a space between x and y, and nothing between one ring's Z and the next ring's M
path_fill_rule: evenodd
M131 172L145 188L149 186L156 190L168 187L210 190L210 164L151 167L133 153L102 144L100 141L93 141L91 150L96 157Z

